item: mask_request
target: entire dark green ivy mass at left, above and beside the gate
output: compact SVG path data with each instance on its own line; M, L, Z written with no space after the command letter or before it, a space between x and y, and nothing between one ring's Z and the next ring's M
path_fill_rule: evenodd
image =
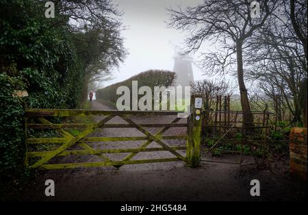
M25 157L24 102L28 108L75 108L84 73L71 34L44 17L35 0L0 0L0 175L18 177ZM29 97L12 97L27 90Z

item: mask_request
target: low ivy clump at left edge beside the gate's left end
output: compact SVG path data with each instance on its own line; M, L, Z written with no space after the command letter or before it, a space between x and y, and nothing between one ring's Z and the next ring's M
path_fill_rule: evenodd
M13 89L23 90L25 84L21 77L0 73L0 86L0 175L3 179L21 170L25 157L23 99L12 97Z

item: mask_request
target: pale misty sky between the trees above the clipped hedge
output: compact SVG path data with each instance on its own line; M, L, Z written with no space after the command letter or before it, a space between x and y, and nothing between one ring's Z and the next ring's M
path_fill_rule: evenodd
M164 21L169 20L166 8L182 8L194 6L202 0L114 0L118 9L123 10L123 25L127 30L122 32L125 38L125 47L129 55L120 68L114 69L114 79L107 81L103 86L123 81L132 75L149 69L166 69L172 71L175 53L171 41L175 45L184 42L186 32L166 27ZM201 51L206 51L209 45L203 45ZM194 55L197 60L198 52ZM194 79L204 79L202 71L193 66Z

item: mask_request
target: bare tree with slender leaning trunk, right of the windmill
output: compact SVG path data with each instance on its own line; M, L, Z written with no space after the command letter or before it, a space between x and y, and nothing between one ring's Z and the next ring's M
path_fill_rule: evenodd
M191 36L186 40L188 47L190 47L188 51L196 51L205 40L219 42L222 46L222 52L204 55L204 61L212 63L211 67L209 67L210 65L207 67L216 73L223 73L229 66L232 66L233 62L237 63L236 71L244 112L250 112L251 107L244 81L242 50L246 40L266 23L276 5L276 1L259 2L251 4L251 1L248 0L207 0L196 7L188 7L185 11L181 8L179 10L169 9L169 26L190 31ZM261 8L259 18L254 18L251 15L253 5ZM253 10L257 8L253 8ZM236 54L235 60L232 60L233 54ZM244 124L248 123L247 126L251 126L253 114L244 114L243 120Z

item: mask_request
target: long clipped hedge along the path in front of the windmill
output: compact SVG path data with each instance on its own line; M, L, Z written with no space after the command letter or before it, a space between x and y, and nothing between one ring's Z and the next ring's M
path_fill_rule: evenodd
M97 90L96 97L97 99L102 99L104 101L115 104L118 98L121 96L116 94L116 89L120 86L127 86L132 93L132 81L138 81L138 88L140 88L141 86L149 86L153 94L154 86L172 86L175 83L175 73L164 70L145 71L138 75L130 77L125 81L121 81L116 84L112 84L110 86ZM138 95L138 97L142 97L142 95Z

